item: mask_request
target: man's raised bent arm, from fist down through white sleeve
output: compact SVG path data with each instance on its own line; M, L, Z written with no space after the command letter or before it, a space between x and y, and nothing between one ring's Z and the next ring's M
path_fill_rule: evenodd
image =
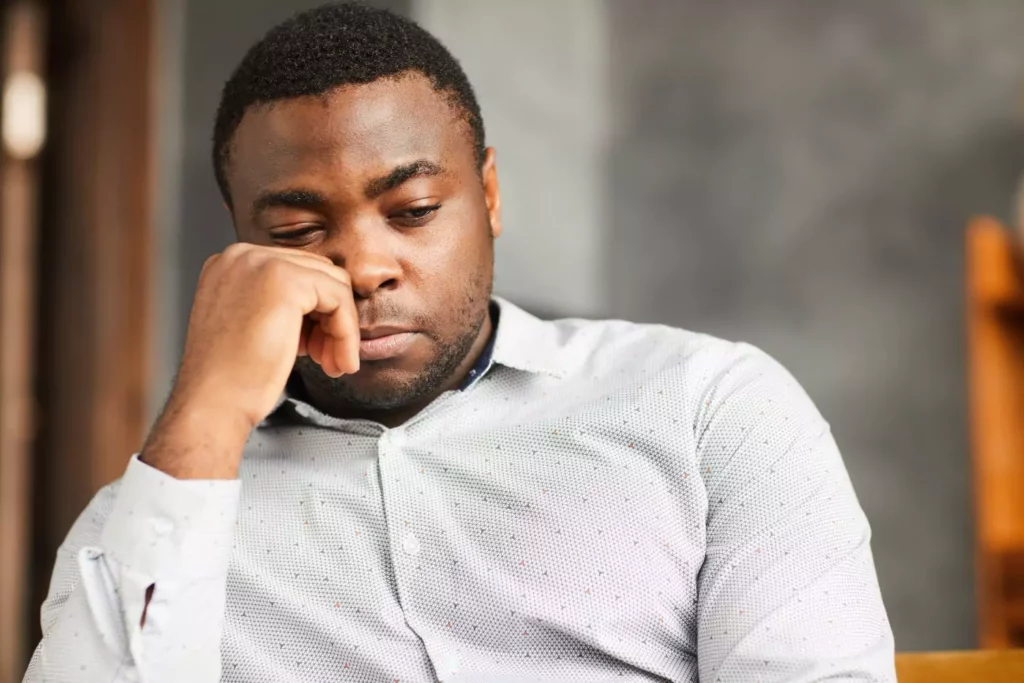
M359 368L348 273L297 250L237 244L207 260L167 404L109 516L100 494L57 557L26 680L220 679L239 465L299 354Z

